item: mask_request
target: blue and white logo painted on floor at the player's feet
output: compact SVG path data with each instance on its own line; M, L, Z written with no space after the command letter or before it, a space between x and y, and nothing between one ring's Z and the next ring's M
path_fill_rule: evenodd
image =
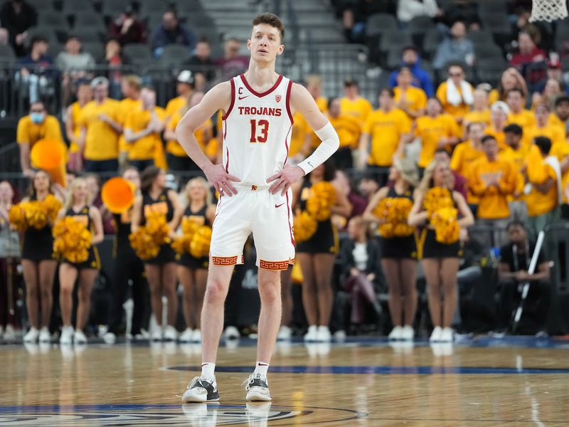
M0 406L0 425L10 426L264 426L307 417L345 421L367 414L334 408L276 406L270 402L224 404L124 404ZM302 423L302 421L299 421Z

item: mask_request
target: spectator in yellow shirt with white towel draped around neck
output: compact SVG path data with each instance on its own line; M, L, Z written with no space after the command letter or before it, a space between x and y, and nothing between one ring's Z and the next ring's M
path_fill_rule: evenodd
M452 115L462 124L464 115L470 111L474 103L474 89L464 80L464 68L459 64L451 64L448 68L448 78L437 88L437 99L440 100L442 110Z

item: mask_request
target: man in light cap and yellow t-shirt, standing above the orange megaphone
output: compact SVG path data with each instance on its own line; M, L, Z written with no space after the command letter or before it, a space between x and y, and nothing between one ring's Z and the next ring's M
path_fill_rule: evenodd
M109 80L92 80L93 100L79 115L79 152L85 158L86 172L117 172L119 168L119 102L109 97Z

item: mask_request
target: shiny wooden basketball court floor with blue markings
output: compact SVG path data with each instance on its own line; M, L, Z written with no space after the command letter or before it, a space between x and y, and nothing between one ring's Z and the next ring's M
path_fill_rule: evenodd
M273 400L240 384L254 340L222 343L219 404L181 404L200 347L174 343L0 347L6 426L565 426L569 341L478 337L454 347L385 339L278 344Z

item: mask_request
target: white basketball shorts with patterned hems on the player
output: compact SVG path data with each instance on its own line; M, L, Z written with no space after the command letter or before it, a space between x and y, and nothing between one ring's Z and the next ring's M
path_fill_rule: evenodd
M243 263L243 246L250 233L257 251L257 266L286 270L294 263L292 190L285 196L268 187L235 187L238 193L221 196L213 221L210 258L213 265Z

